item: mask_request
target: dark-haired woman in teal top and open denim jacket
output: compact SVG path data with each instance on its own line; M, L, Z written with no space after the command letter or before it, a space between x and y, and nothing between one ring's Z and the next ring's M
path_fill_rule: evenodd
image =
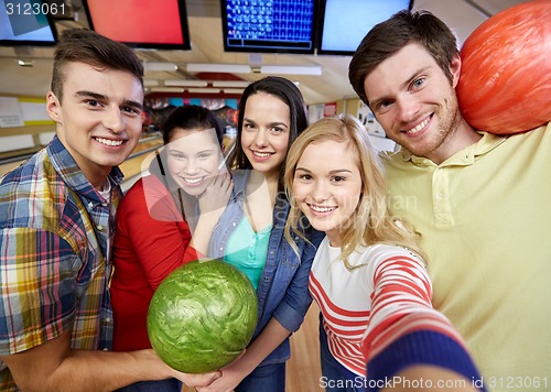
M282 175L289 146L307 127L304 100L296 86L281 77L249 85L239 102L238 134L233 155L234 192L208 255L245 272L257 288L259 320L245 355L223 369L209 390L284 392L289 336L299 329L312 303L307 276L315 254L301 241L299 254L283 239L289 202Z

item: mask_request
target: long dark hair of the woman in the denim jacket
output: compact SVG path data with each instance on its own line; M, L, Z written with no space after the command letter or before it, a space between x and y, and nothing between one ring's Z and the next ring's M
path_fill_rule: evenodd
M237 139L236 148L229 157L230 166L235 168L252 168L252 164L248 160L241 146L241 133L244 127L245 107L247 99L258 92L269 94L283 101L291 112L291 123L289 132L288 152L291 144L299 137L299 134L309 126L306 105L299 88L289 79L279 76L268 76L263 79L257 80L245 89L239 101L239 113L237 121ZM283 163L279 175L279 190L283 190L283 173L285 164Z

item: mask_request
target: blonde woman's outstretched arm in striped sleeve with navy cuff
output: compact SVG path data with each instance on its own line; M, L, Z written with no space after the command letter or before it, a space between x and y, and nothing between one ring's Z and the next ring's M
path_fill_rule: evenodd
M380 254L370 276L371 318L364 353L374 390L408 390L421 385L421 380L428 388L428 383L433 388L445 383L452 391L477 390L473 380L479 374L461 336L432 307L431 282L422 261L408 252Z

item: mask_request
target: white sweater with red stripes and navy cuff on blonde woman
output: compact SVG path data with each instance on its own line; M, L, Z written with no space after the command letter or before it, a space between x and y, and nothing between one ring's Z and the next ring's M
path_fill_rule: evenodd
M377 380L421 363L478 378L462 338L432 307L431 282L415 254L376 244L360 247L348 262L352 271L341 260L341 248L325 238L309 282L329 351L339 363L363 377L368 369L368 379Z

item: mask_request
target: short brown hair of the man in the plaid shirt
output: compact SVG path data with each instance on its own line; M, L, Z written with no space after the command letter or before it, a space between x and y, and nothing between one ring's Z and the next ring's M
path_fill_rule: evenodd
M143 65L130 47L91 30L67 29L62 32L56 45L52 75L51 89L60 102L63 99L65 80L63 68L69 62L127 70L134 75L143 87Z

